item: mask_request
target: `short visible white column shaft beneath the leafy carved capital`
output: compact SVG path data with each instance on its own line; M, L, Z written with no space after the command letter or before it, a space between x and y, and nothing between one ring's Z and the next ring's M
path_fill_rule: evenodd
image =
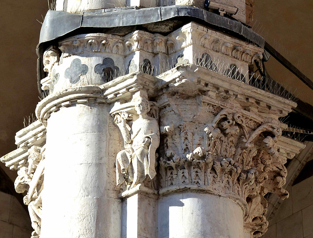
M234 201L184 191L158 201L158 238L243 238L242 208Z

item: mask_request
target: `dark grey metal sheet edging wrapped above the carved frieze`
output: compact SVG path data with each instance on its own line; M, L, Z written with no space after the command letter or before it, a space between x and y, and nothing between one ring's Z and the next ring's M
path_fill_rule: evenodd
M141 25L180 17L191 17L224 28L230 32L240 34L247 40L264 48L264 38L240 22L200 8L176 5L141 9L128 8L116 11L95 10L81 14L48 11L40 32L37 48L42 43L57 39L81 27L111 28Z

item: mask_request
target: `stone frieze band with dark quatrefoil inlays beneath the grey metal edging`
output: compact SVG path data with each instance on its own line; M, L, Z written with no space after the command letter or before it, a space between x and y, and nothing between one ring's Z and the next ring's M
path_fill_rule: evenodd
M225 66L229 64L229 69L224 69L226 74L246 81L248 65L260 60L263 53L262 48L194 22L167 36L141 30L126 36L78 35L60 41L59 49L50 47L44 54L48 76L41 83L42 89L50 93L80 85L101 85L135 71L157 75L186 63L220 71L217 63L223 61Z

